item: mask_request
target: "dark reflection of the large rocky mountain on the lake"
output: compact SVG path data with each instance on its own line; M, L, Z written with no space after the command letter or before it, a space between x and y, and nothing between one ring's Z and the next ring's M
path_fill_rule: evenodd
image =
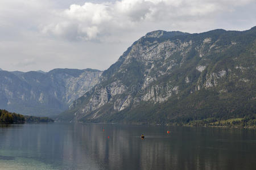
M237 160L241 156L237 152L242 143L216 140L216 137L223 139L227 135L228 138L237 137L242 131L174 129L171 136L165 134L167 130L163 127L78 124L69 131L68 138L79 145L72 155L89 157L103 169L221 169L223 166L236 169L250 165L250 160L247 163ZM74 137L73 130L81 135ZM142 140L141 133L148 138L146 135ZM229 161L232 159L237 161ZM76 160L73 157L73 161Z

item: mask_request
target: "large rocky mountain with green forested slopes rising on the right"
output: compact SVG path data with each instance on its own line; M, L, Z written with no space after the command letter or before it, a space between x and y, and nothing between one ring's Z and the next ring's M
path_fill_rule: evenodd
M58 120L187 124L255 118L255 61L256 27L150 32Z

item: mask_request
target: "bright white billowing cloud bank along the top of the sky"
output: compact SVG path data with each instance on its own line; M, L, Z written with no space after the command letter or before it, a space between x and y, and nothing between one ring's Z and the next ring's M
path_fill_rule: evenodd
M199 22L205 16L232 11L250 0L122 0L85 2L57 12L59 20L43 27L48 35L69 40L102 40L119 31L134 31L143 24Z

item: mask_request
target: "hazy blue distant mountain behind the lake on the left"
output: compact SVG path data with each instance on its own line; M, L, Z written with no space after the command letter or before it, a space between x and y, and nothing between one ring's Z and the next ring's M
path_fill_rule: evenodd
M102 71L54 69L0 71L0 108L32 116L56 116L98 83Z

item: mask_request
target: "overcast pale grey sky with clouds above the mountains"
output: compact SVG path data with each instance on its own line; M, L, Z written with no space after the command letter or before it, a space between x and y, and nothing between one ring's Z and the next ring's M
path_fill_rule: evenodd
M0 68L105 70L155 30L243 31L256 0L1 0Z

